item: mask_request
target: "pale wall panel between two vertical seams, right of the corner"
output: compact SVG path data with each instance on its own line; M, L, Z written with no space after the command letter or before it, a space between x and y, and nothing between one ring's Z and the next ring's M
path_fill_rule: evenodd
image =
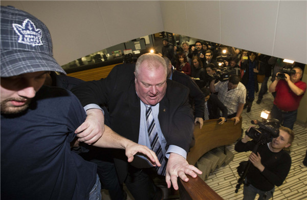
M221 43L272 55L277 8L277 1L221 2Z

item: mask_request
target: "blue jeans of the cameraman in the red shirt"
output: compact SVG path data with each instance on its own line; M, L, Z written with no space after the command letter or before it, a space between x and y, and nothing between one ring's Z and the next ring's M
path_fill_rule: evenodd
M273 104L271 111L271 118L278 119L279 122L284 126L293 130L294 122L296 121L297 110L290 112L282 112L275 104Z

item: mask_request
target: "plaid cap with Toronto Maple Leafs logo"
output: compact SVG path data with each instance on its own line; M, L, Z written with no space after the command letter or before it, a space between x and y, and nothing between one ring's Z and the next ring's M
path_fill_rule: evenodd
M45 24L31 14L1 6L1 77L39 71L66 74L53 58Z

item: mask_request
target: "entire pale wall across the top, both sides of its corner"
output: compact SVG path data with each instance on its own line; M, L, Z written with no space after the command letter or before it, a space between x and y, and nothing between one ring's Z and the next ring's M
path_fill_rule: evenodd
M60 64L167 31L307 63L307 1L1 1L41 19Z

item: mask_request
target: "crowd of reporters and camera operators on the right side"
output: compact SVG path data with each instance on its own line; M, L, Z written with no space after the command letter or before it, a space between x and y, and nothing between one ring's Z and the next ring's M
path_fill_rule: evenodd
M203 124L208 119L220 118L220 124L227 119L240 120L258 93L257 104L267 92L271 92L274 102L271 119L279 122L279 136L259 146L252 152L252 163L244 183L244 199L269 199L275 186L286 179L291 166L289 147L294 139L293 126L300 101L306 91L306 83L301 81L303 68L299 63L287 64L280 58L235 48L221 47L206 41L196 41L190 45L182 42L181 49L174 51L173 70L189 76L205 96ZM223 50L226 50L226 52ZM188 59L189 58L189 59ZM189 73L187 73L189 72ZM227 78L225 78L227 77ZM271 84L268 86L269 78ZM246 135L235 145L238 152L252 151L256 141ZM288 148L288 152L283 148ZM307 153L300 164L307 167Z

